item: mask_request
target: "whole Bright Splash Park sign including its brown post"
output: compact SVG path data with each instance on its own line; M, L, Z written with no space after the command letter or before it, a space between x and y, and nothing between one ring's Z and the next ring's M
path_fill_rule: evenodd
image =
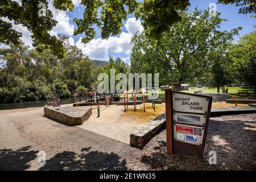
M166 96L168 154L203 156L212 97L172 90Z

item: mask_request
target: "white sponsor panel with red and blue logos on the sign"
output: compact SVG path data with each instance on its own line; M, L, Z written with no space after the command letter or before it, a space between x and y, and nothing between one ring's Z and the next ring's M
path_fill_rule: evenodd
M201 145L204 137L204 127L175 123L174 138L179 142Z

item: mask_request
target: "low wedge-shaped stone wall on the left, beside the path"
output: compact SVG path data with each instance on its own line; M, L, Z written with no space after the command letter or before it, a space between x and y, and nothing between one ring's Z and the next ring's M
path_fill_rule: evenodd
M44 107L44 116L68 126L82 125L91 115L92 107Z

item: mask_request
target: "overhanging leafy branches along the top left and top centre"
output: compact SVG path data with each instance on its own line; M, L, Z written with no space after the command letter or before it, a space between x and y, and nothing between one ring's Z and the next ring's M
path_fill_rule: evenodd
M39 16L41 6L46 5L46 16ZM143 26L152 37L158 37L168 30L172 23L180 20L177 10L184 10L189 6L188 0L81 0L84 7L82 19L74 18L77 28L74 35L84 34L83 43L88 43L96 36L94 25L101 29L101 37L108 38L121 32L122 22L128 14L135 14L143 20ZM73 11L72 0L55 0L53 6L57 10ZM16 31L9 19L14 24L21 24L31 32L33 46L44 44L46 48L59 58L64 57L64 47L56 36L49 35L49 31L56 26L52 11L48 9L49 1L46 0L1 0L0 2L0 43L17 45L22 34ZM99 16L100 14L100 16ZM39 49L40 50L40 49Z

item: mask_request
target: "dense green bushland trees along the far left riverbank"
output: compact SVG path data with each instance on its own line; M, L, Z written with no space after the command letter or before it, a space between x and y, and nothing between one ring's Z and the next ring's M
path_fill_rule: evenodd
M0 104L84 95L97 89L97 76L108 72L108 67L125 66L119 58L110 57L111 64L91 61L66 37L59 39L64 59L43 45L29 49L20 42L19 46L0 49Z

